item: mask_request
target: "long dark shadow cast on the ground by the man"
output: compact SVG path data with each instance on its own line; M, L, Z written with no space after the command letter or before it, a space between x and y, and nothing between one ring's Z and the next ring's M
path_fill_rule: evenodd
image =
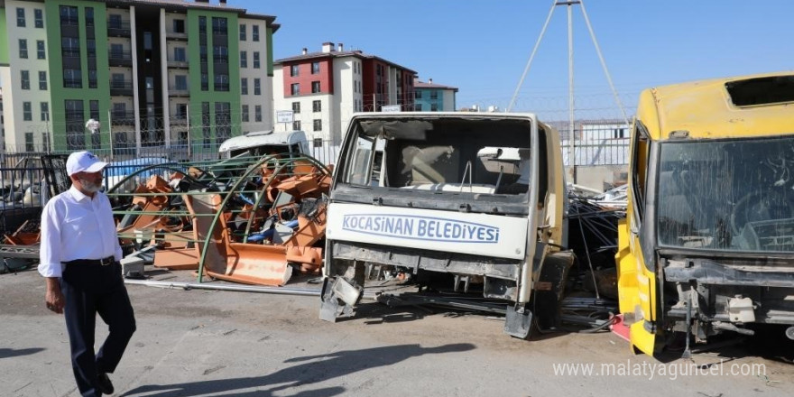
M238 397L270 396L273 392L312 383L322 383L379 366L393 365L411 357L465 352L474 348L474 345L468 343L437 347L422 347L414 344L344 350L327 355L307 355L286 360L284 363L302 364L292 365L272 374L191 383L143 385L125 392L122 396L133 396L138 393L145 394L147 397L176 397L211 393L223 393L224 396ZM263 388L265 386L269 387L265 390L229 393L238 389ZM298 392L293 394L293 397L331 396L342 392L345 392L344 387L335 386Z

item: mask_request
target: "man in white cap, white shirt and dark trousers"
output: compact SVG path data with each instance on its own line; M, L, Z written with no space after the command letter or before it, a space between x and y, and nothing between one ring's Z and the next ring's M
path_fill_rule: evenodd
M72 186L42 211L39 272L47 279L47 309L64 313L72 370L86 397L113 393L107 373L135 331L110 200L99 191L106 165L91 152L71 153L66 171ZM109 335L95 355L97 313Z

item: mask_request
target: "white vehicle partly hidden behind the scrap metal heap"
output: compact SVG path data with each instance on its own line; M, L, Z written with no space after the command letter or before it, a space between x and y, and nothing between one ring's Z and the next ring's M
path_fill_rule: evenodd
M229 159L245 152L251 156L286 152L309 154L309 142L306 141L306 133L303 131L273 133L272 130L266 130L229 138L218 149L221 159Z

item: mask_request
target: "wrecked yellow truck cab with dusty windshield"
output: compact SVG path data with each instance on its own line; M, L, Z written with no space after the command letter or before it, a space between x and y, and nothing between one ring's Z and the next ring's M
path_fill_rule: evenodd
M632 346L752 323L794 339L794 71L642 91L629 163L615 259Z

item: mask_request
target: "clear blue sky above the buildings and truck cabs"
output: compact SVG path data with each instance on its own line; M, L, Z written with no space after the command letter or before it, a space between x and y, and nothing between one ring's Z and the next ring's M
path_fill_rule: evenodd
M457 106L505 108L551 8L550 0L229 0L276 16L276 59L343 42L459 88ZM586 0L623 105L642 88L794 69L794 1ZM619 115L579 6L573 8L579 113ZM514 110L567 119L568 17L555 9Z

